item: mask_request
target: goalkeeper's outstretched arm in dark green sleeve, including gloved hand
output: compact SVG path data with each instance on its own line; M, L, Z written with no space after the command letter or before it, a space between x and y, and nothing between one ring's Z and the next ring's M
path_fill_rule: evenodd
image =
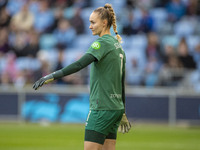
M36 81L33 85L33 88L37 90L39 87L41 87L43 84L47 84L53 80L57 80L59 78L62 78L64 76L73 74L75 72L78 72L79 70L87 67L89 64L94 62L96 58L91 54L85 54L82 56L78 61L72 63L71 65L64 67L58 71L55 71L49 75L46 75L42 78L40 78L38 81Z

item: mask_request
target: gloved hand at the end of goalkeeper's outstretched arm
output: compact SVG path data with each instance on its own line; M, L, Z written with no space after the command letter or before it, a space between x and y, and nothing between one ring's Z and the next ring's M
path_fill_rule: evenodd
M43 84L47 84L51 81L54 80L54 77L52 74L49 74L49 75L46 75L45 77L42 77L40 78L38 81L36 81L34 84L33 84L33 88L35 90L37 90L39 87L41 87Z

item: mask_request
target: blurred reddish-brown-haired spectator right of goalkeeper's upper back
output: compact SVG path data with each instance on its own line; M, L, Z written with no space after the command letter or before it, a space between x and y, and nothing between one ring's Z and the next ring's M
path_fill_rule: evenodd
M146 57L155 57L157 61L163 61L163 54L161 52L161 46L158 35L155 32L150 32L148 35L148 44L146 48Z

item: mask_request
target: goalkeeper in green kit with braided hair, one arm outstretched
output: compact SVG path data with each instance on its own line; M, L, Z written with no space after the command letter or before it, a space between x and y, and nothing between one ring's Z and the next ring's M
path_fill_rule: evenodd
M92 43L84 56L71 65L39 79L37 90L44 84L75 73L89 64L90 111L85 126L84 150L115 150L117 129L127 133L131 125L125 115L125 53L117 33L116 16L110 4L95 9L89 18ZM110 28L116 33L111 36Z

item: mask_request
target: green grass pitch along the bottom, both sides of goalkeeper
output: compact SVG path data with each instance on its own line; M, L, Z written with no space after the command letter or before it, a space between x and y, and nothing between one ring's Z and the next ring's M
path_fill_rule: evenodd
M0 123L0 150L82 150L83 124ZM200 150L200 127L135 125L116 150Z

